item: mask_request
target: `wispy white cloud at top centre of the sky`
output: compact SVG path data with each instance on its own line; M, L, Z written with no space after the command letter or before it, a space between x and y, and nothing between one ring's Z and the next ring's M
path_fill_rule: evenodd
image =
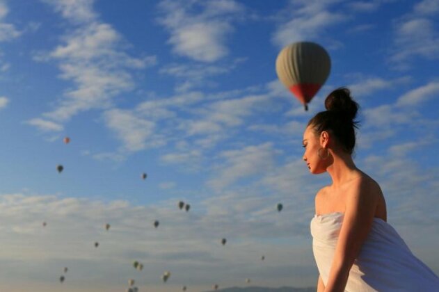
M175 54L201 62L227 56L226 41L234 30L232 22L244 12L244 7L233 0L161 1L159 8L164 14L159 17L159 24L170 32L168 42Z

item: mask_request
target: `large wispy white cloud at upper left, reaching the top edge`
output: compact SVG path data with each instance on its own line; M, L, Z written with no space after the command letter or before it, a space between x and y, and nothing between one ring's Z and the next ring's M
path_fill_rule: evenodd
M110 24L99 21L91 0L47 0L74 29L58 45L38 60L55 60L60 77L74 88L64 92L54 111L43 116L55 122L66 122L72 116L92 108L113 106L113 97L135 87L130 70L144 69L155 63L153 56L134 58L123 49L124 40Z

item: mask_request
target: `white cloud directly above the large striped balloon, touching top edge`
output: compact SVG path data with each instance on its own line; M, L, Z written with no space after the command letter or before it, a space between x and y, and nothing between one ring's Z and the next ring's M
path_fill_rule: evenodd
M312 40L319 37L328 26L345 21L348 17L329 10L339 1L295 1L285 9L280 23L273 33L272 41L278 47L291 42Z

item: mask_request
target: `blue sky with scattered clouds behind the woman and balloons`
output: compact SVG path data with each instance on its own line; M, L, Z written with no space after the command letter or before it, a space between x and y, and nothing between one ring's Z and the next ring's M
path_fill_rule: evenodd
M330 179L301 140L340 86L361 106L357 165L439 273L438 15L437 0L0 0L0 290L59 291L65 266L64 291L314 286ZM309 112L274 65L300 40L332 60Z

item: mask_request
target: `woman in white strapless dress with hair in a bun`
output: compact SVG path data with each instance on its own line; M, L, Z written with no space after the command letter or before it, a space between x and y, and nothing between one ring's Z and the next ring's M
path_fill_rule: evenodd
M317 193L311 220L317 291L439 291L438 276L386 222L380 186L353 163L358 104L339 88L325 106L303 134L310 172L333 180Z

